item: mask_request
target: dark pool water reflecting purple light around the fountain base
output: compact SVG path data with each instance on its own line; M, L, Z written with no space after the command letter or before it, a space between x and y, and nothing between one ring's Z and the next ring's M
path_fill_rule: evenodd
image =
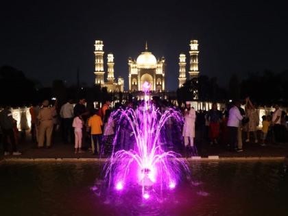
M191 180L145 202L136 189L101 193L102 167L3 163L0 215L288 215L285 162L191 163Z

